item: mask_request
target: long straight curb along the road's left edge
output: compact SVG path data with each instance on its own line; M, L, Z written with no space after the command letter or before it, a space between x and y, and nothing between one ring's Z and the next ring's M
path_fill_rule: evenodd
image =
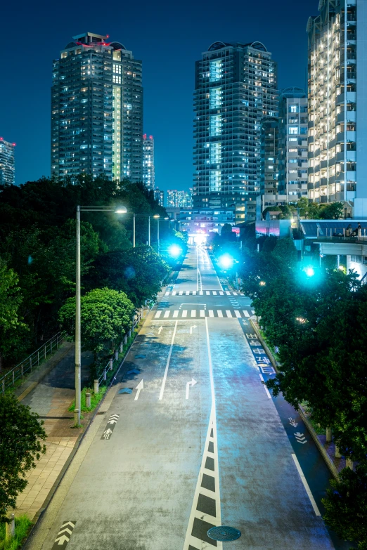
M142 329L142 326L139 328L139 332L141 331L141 329ZM139 332L136 333L136 336L138 336ZM121 361L120 365L117 367L117 371L115 372L115 376L118 372L120 372L120 369L121 369L122 365L124 364L124 361L127 358L127 355L129 354L129 351L131 350L131 347L133 346L133 344L135 342L136 336L135 336L134 340L131 342L129 348L127 349L127 352L124 355L124 357L122 358L122 361ZM82 443L82 440L84 439L84 436L86 435L87 431L89 430L89 426L91 426L92 422L94 421L96 415L98 414L98 412L101 408L101 405L103 404L103 402L106 398L106 395L108 394L108 391L110 391L110 388L113 384L113 381L114 381L114 377L112 377L112 380L110 381L110 384L107 388L107 391L105 392L105 395L103 395L103 398L98 403L98 406L96 407L96 410L94 411L93 416L89 420L89 423L86 426L84 432L79 433L79 436L77 438L77 441L75 442L75 445L72 449L72 452L70 452L70 455L69 455L69 457L67 457L67 461L65 462L65 464L63 466L63 469L58 474L58 477L56 478L55 483L53 483L53 486L51 487L51 489L49 491L49 495L47 495L46 499L44 500L44 503L39 508L39 511L36 513L36 515L34 516L34 518L32 520L32 523L33 523L32 528L31 528L29 534L27 535L27 539L22 544L22 546L20 546L20 550L26 550L27 549L28 543L30 542L30 538L32 537L34 531L37 528L37 525L39 524L39 520L41 519L41 517L43 516L43 514L46 511L47 507L49 506L49 504L50 504L50 502L53 498L53 495L55 495L56 490L58 489L58 486L60 485L61 481L63 480L63 477L65 476L65 473L66 473L68 467L70 466L70 463L72 462L72 459L75 457L75 454L77 454L77 451L79 450L80 444Z

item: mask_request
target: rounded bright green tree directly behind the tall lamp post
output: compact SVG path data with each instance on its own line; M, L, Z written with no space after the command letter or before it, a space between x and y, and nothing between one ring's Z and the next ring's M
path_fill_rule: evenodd
M109 353L115 342L131 327L134 304L124 292L94 289L81 299L82 348L93 351L95 361L101 352ZM75 334L75 297L60 308L59 320L70 339Z

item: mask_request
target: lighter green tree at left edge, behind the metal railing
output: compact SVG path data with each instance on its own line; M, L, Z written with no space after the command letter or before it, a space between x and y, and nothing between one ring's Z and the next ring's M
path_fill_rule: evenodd
M0 372L2 358L14 355L27 328L18 311L22 303L18 281L18 275L0 259Z

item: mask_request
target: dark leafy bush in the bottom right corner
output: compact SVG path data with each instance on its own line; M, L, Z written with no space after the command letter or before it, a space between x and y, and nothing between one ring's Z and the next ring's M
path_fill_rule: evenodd
M367 549L367 462L356 466L356 471L343 469L337 480L330 480L323 505L323 520L341 539Z

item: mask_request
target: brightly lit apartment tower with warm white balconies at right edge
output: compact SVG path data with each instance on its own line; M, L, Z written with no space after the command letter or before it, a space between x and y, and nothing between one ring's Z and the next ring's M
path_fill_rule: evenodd
M365 0L320 0L309 18L309 199L367 217Z

